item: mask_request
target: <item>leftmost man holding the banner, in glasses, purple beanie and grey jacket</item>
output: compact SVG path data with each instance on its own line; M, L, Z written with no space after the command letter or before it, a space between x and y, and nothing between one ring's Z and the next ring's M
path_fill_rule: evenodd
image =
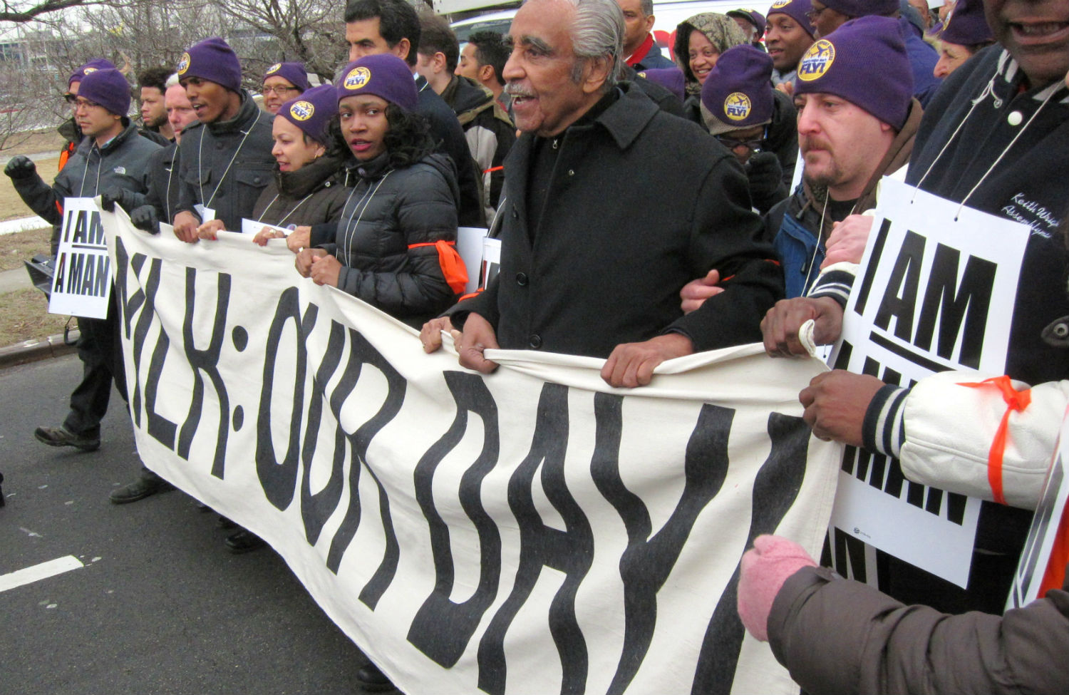
M89 72L75 98L75 121L86 139L74 156L51 186L32 169L29 175L13 176L15 188L24 199L45 201L46 207L52 211L46 219L56 226L53 248L58 248L63 233L58 205L62 205L65 198L91 198L111 186L135 192L144 192L148 187L149 160L159 145L138 135L137 126L126 117L129 106L129 83L118 70ZM92 451L100 446L100 420L108 411L112 381L125 398L114 295L107 319L82 318L78 320L78 357L83 373L81 383L71 395L71 412L63 424L40 427L34 436L50 446Z

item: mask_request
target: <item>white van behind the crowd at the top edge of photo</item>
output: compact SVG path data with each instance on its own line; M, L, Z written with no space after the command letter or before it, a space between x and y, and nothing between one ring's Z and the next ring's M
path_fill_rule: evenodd
M495 31L506 34L512 26L512 17L516 14L515 5L508 10L483 6L492 4L489 0L435 0L434 11L440 15L463 15L465 18L452 22L456 37L464 43L476 31ZM497 4L500 7L500 4ZM676 27L688 17L702 12L718 12L724 14L730 10L757 10L768 16L772 2L768 0L758 3L746 3L745 0L676 0L667 2L653 1L653 38L663 49L663 53L671 58L671 48L676 44ZM475 14L471 11L476 11Z

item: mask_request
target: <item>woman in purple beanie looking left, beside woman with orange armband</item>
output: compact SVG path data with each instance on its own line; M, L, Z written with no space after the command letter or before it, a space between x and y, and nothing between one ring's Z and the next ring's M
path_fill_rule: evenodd
M251 219L291 230L298 223L337 223L348 192L343 185L345 155L331 132L337 117L332 84L313 87L279 107L272 126L275 175L260 194ZM214 240L222 229L222 220L213 219L201 225L198 234ZM284 236L265 227L252 241L263 246Z

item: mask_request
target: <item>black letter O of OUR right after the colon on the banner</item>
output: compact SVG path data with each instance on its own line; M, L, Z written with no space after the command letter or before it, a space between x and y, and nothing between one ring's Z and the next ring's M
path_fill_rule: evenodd
M297 298L297 288L286 288L275 306L275 316L272 319L270 328L267 329L267 355L264 358L260 413L257 417L257 477L260 479L267 501L280 510L290 506L297 488L297 466L300 463L300 426L305 412L305 375L308 365L308 348L305 345L305 338L315 326L315 316L319 313L319 307L310 304L308 311L301 315ZM283 377L275 373L278 351L274 348L282 342L282 331L290 322L293 323L296 355L292 362L286 360L285 367L292 368L293 371L292 373L288 371L286 376ZM276 377L279 383L282 383L282 379L292 377L293 380L289 439L281 463L278 461L275 442L272 438L270 407Z

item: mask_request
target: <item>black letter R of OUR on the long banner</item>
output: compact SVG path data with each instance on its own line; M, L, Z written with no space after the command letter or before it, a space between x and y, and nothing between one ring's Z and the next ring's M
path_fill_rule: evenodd
M386 488L383 486L383 483L378 480L374 469L368 462L368 446L371 444L371 439L378 434L378 431L397 417L397 414L401 411L407 382L361 334L350 329L348 336L352 345L348 365L345 366L345 372L341 380L342 383L338 385L338 388L330 397L330 410L334 412L335 417L340 420L341 407L347 396L344 389L352 392L365 365L374 367L382 372L386 379L387 393L378 412L370 420L357 428L352 434L346 433L353 450L353 462L348 469L348 509L345 510L345 516L342 519L338 531L330 541L330 551L327 553L327 569L336 574L338 573L341 559L345 555L345 551L348 550L350 543L353 542L357 528L360 526L359 480L360 467L365 466L368 469L368 475L371 476L371 479L378 488L379 519L382 520L383 536L386 542L378 569L375 570L375 573L365 585L359 596L360 601L374 611L378 604L378 600L386 592L386 589L389 588L393 576L397 574L401 547L398 544L397 532L393 530L393 521L390 518L390 499L386 494Z

